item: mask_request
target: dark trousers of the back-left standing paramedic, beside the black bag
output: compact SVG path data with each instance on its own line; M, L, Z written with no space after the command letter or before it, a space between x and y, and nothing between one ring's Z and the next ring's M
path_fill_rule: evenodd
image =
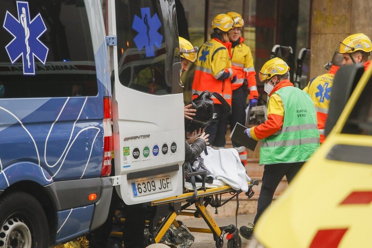
M221 114L223 114L222 105L214 104L214 116L219 117ZM209 134L209 144L220 147L225 146L227 119L228 117L224 117L219 120L212 120L212 123L205 128L205 133Z

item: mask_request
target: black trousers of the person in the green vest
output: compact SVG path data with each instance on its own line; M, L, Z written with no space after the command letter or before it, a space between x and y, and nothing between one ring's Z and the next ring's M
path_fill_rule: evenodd
M260 196L257 204L257 214L254 218L253 224L256 224L263 211L273 201L274 192L282 178L286 176L288 183L291 183L292 179L295 177L304 163L305 162L265 165Z

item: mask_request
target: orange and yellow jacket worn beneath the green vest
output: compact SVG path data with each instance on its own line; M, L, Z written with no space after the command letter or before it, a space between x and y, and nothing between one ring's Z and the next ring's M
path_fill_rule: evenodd
M289 79L280 81L279 84L276 84L268 95L269 97L277 90L283 87L294 87ZM282 99L279 96L274 95L269 98L267 103L267 120L264 123L261 123L258 126L251 128L251 136L253 139L259 140L267 138L274 133L278 132L283 126L284 120L284 107Z

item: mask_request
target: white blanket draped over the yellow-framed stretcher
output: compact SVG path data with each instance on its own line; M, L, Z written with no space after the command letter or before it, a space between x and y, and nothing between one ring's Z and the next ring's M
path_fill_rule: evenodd
M204 166L217 180L224 181L234 190L248 191L247 181L251 179L240 162L239 154L234 148L215 150L207 146L208 155L200 155L204 159Z

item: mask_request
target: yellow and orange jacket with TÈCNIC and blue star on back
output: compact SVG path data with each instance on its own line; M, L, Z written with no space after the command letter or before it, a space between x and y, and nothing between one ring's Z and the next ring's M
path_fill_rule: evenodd
M325 121L328 117L329 100L331 97L334 75L340 67L332 65L328 73L314 77L309 84L303 89L310 94L317 111L318 129L320 134L320 143L323 143Z

